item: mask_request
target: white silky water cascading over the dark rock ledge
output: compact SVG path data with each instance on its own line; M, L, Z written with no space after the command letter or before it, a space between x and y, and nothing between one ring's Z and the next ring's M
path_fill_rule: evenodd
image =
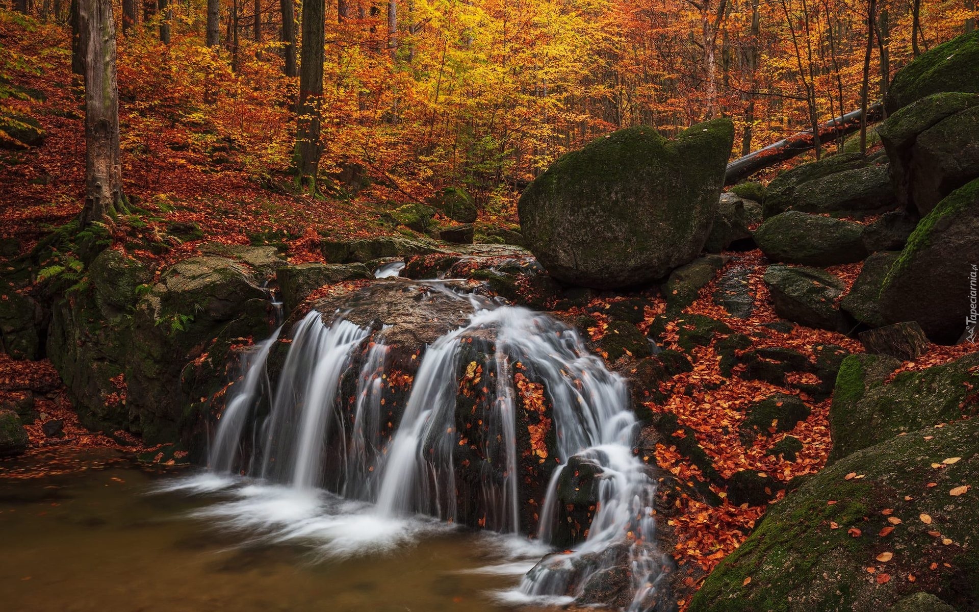
M630 609L645 609L659 571L653 546L656 485L632 452L637 424L625 381L589 354L574 330L546 315L452 297L473 313L420 355L403 406L392 405L391 390L403 373L391 365L394 348L384 344L384 330L354 324L343 311L329 325L316 311L296 324L269 402L269 386L262 381L279 342L277 331L246 358L244 379L214 436L210 469L247 471L296 492L323 488L370 502L369 510L357 506L357 512L369 513L375 525L419 514L467 524L480 517L481 526L517 534L533 528L521 514L522 488L533 480L527 465L540 464L552 472L536 535L550 542L569 462L586 462L596 474L586 538L572 552L545 557L520 591L527 598L576 596L589 580L628 564L635 592ZM539 415L544 430L553 423L553 448L549 456L541 453L546 461L518 447L528 435L521 430L536 427L521 420L526 406L515 388L518 371L522 380L542 387L550 405L549 418ZM476 381L473 386L486 397L474 400L470 410L477 427L461 431L459 394L467 381ZM246 449L251 456L244 456ZM470 452L465 456L474 462L480 457L478 469L469 458L460 463L460 452ZM525 465L529 453L535 461ZM460 498L460 483L474 478L476 500ZM295 529L307 533L305 527Z

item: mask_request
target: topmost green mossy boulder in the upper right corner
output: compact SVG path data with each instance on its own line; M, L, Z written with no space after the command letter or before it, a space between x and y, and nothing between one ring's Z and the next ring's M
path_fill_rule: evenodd
M921 98L943 91L979 93L979 30L922 53L898 71L887 89L884 109L894 115Z

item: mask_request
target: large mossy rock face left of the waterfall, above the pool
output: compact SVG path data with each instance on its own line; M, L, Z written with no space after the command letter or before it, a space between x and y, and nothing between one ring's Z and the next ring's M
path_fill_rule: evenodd
M113 250L89 265L85 289L52 308L48 354L79 420L126 430L149 444L204 447L204 414L225 379L232 344L269 331L260 288L285 265L274 247L213 249L226 257L185 259L158 281Z

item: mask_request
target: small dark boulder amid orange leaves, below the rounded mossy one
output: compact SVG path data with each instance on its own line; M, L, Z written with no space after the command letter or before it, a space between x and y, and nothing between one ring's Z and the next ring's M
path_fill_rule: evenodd
M846 288L838 277L813 267L774 264L763 279L778 316L808 327L841 333L850 330L847 316L836 305Z

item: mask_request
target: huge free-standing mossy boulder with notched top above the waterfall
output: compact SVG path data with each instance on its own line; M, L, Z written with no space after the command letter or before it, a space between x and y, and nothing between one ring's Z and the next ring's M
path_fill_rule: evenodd
M565 155L520 198L530 250L569 284L613 289L663 278L707 240L733 135L727 119L673 141L637 126Z

